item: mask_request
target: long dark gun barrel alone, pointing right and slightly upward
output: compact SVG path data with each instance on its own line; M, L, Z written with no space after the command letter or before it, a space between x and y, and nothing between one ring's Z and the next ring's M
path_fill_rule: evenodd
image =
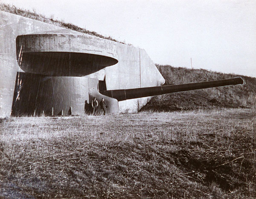
M224 87L230 85L244 84L242 78L224 79L217 81L204 81L190 84L177 84L160 87L144 87L136 89L118 89L118 90L105 90L100 91L102 95L111 98L116 98L117 101L124 101L128 99L143 98L154 95L163 95L174 92L184 92L197 89L207 89L213 87Z

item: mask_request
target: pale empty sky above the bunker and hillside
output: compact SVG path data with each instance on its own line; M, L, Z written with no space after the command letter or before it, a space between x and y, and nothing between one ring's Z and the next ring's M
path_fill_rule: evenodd
M256 77L256 0L0 0L138 46L154 63Z

